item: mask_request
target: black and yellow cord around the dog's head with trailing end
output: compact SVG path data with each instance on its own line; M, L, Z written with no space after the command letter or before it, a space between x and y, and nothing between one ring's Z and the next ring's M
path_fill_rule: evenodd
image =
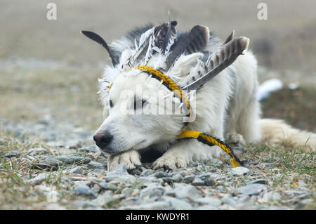
M187 109L189 110L189 114L187 114L188 117L191 116L191 106L189 101L187 100L185 94L183 94L183 91L180 90L180 88L170 79L166 74L163 74L162 72L159 72L158 70L155 70L152 67L147 67L147 66L138 66L135 67L136 69L146 72L147 74L152 75L152 77L162 81L162 84L169 88L170 91L173 91L175 95L180 98L181 103L185 103L187 105ZM110 84L110 87L112 87L112 84ZM186 122L183 126L182 132L180 133L177 138L180 139L192 139L195 138L199 142L204 143L209 146L214 146L217 145L220 147L222 150L224 150L227 154L230 155L232 158L232 166L237 167L237 166L242 166L242 162L238 159L238 157L235 155L235 153L230 149L228 145L225 145L221 140L218 140L216 138L213 138L212 136L209 136L205 133L202 133L200 131L185 131L187 128L188 122Z

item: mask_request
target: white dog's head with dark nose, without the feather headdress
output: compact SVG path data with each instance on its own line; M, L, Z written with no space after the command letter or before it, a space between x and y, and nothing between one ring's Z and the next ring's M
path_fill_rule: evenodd
M145 72L133 69L116 76L110 90L100 81L105 120L93 136L100 150L116 154L175 140L183 127L183 115L176 110L180 100Z

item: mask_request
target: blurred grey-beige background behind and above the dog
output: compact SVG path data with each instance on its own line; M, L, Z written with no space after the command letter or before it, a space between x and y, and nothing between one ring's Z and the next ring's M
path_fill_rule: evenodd
M57 6L57 20L46 18L49 2ZM268 20L258 20L260 2L268 6ZM232 29L249 37L260 82L277 78L284 84L263 100L263 117L316 131L315 8L315 0L1 0L2 128L71 124L96 130L102 122L97 79L110 60L80 31L97 32L111 43L134 27L168 20L170 11L178 30L206 25L221 39Z

